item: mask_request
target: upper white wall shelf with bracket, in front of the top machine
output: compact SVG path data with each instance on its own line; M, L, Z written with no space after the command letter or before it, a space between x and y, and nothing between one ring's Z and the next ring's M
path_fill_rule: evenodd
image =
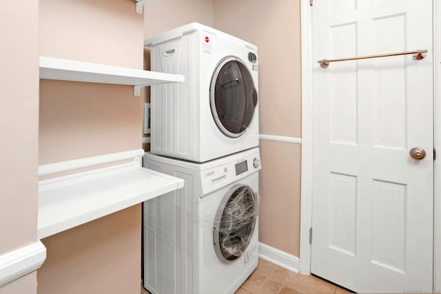
M135 95L139 96L139 87L160 83L183 82L181 74L165 74L134 68L72 61L40 56L40 78L59 81L76 81L86 83L105 83L135 86Z

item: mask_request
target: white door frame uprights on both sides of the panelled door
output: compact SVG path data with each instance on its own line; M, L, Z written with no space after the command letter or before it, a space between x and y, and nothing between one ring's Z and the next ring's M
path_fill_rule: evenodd
M311 244L309 231L312 225L313 176L313 70L312 60L312 6L308 0L300 1L302 43L302 179L300 196L300 273L311 273ZM441 3L433 2L433 143L441 156ZM433 211L433 287L441 291L441 160L434 162Z

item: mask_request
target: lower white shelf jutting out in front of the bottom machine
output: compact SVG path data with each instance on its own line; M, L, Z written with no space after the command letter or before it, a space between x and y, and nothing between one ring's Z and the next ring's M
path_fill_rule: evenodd
M184 180L134 165L116 165L39 182L39 239L164 193Z

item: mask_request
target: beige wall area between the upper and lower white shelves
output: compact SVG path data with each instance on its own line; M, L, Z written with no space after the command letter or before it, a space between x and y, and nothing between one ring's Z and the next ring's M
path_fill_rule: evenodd
M39 164L141 148L133 87L42 80Z

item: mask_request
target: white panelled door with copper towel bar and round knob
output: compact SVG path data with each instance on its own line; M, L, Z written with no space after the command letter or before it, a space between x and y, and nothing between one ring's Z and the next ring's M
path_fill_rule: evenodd
M360 293L431 291L432 1L317 0L311 272ZM413 147L426 158L409 156Z

